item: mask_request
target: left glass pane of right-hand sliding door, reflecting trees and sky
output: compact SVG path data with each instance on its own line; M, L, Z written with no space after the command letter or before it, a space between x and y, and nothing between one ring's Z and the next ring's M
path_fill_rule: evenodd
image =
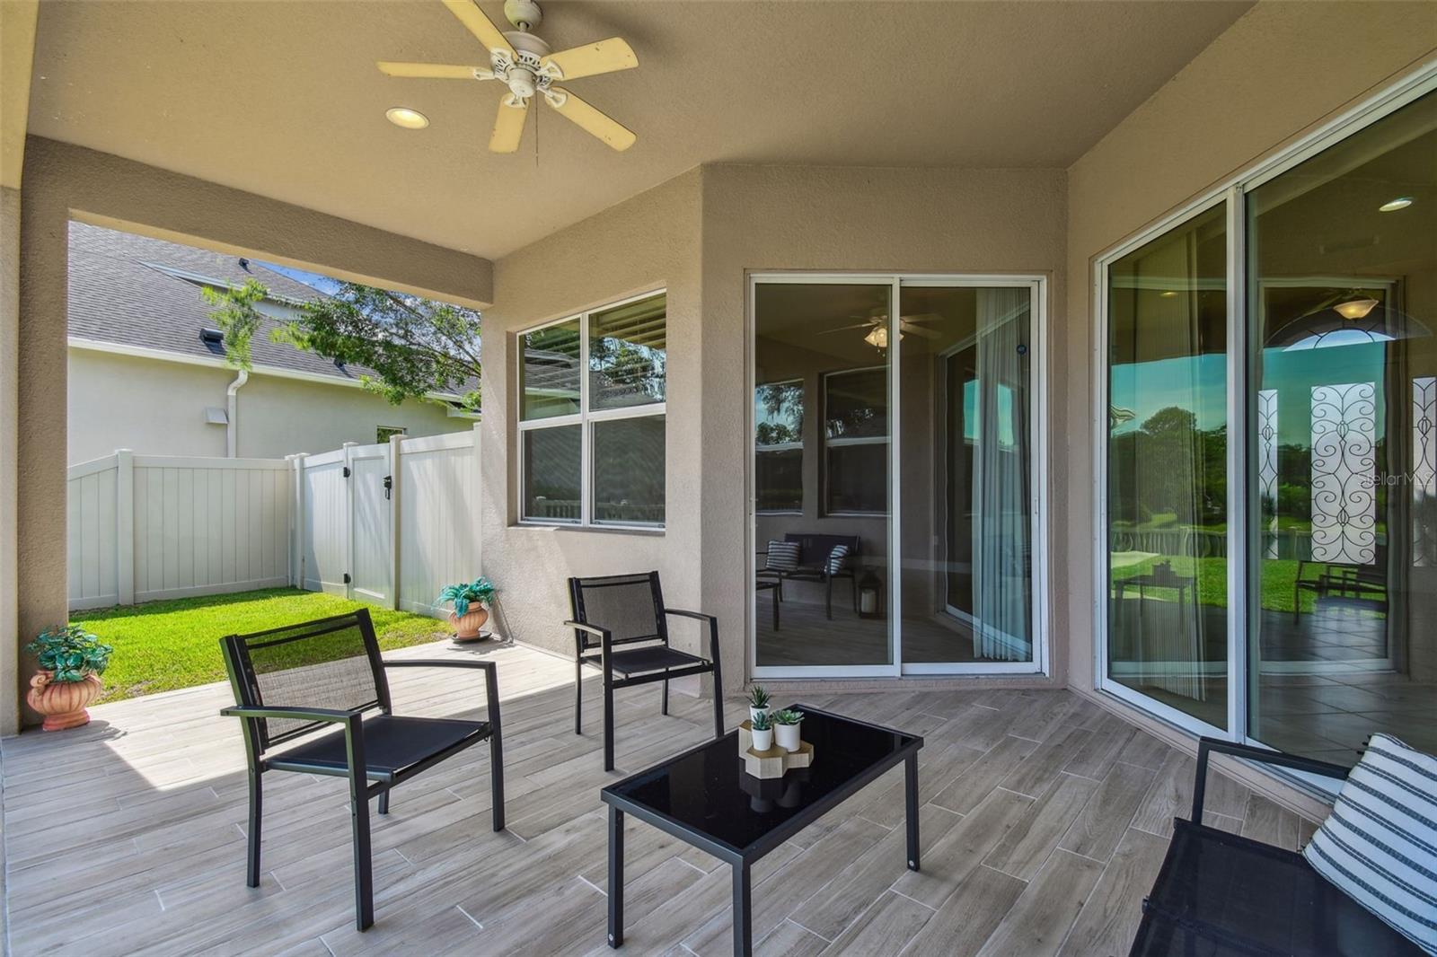
M1108 266L1108 674L1227 727L1227 230Z

